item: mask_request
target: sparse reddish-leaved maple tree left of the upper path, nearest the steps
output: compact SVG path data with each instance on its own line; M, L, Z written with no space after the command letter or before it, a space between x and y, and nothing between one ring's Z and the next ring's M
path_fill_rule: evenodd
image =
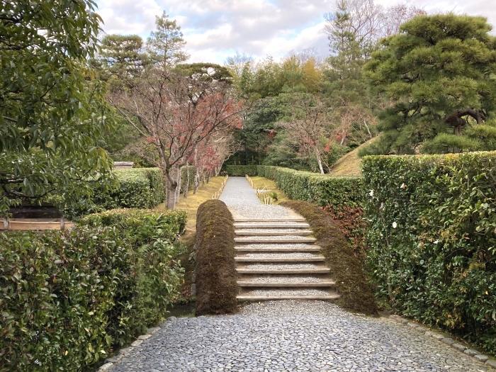
M220 169L226 158L221 147L229 148L231 131L242 126L242 103L227 81L151 68L110 100L149 144L139 154L162 170L170 209L179 196L181 167Z

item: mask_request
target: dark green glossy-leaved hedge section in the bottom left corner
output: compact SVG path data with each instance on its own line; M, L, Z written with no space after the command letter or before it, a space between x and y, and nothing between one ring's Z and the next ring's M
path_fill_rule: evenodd
M127 252L110 228L0 234L0 371L80 371L106 358Z

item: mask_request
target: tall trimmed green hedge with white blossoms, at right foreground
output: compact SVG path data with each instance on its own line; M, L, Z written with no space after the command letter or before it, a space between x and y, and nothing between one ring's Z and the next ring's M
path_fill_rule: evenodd
M496 354L496 152L365 157L363 176L378 295Z

